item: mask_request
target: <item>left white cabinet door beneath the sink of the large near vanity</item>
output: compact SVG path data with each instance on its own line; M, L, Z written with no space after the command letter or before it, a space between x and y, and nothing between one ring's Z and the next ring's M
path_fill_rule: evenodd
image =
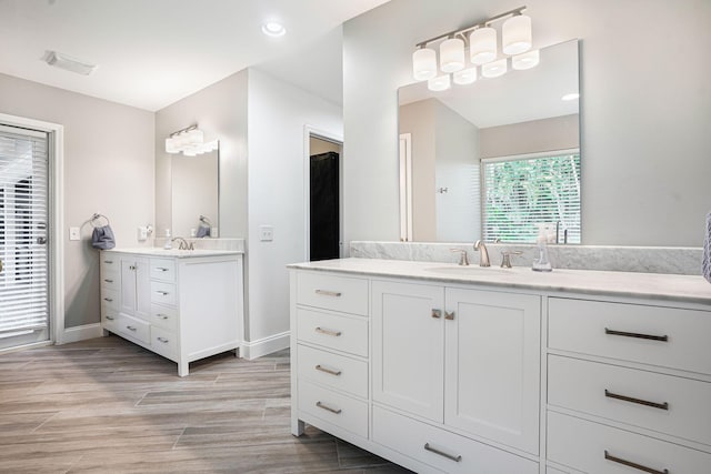
M444 289L373 281L372 295L373 400L442 422Z

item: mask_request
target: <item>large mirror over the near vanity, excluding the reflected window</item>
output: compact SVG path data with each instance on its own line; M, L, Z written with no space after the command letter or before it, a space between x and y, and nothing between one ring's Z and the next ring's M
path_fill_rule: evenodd
M541 152L554 155L561 150L579 153L578 100L562 100L578 90L578 41L542 49L540 64L531 70L510 71L444 92L431 92L425 83L401 88L399 132L410 135L412 162L411 190L401 193L411 195L412 235L408 240L471 242L497 239L497 233L510 242L534 239L529 235L532 223L529 231L507 234L505 225L495 221L488 193L493 186L480 177L481 163L538 159ZM482 189L482 181L491 189ZM562 221L567 212L559 214L545 220ZM579 215L578 211L577 223L569 224L577 226L577 235ZM515 222L534 219L513 216Z

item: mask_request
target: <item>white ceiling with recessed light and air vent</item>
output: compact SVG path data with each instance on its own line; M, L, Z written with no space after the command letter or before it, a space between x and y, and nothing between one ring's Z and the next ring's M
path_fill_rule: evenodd
M338 27L387 1L0 0L0 72L156 111L261 63L340 103ZM264 36L267 20L287 34ZM99 68L51 68L47 51Z

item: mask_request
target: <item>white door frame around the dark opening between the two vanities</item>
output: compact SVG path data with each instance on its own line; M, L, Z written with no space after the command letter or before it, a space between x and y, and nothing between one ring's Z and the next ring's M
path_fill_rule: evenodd
M343 149L343 137L328 132L326 130L317 129L312 125L303 125L303 255L304 261L309 261L311 258L310 239L311 239L311 185L310 185L310 163L311 163L311 137L333 142L341 145ZM341 152L341 159L338 161L338 179L339 179L339 256L343 256L343 153Z

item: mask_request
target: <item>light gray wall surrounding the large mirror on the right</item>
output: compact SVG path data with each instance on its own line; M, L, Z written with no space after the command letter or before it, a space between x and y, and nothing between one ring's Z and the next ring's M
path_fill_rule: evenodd
M583 243L701 245L711 206L711 2L527 4L534 47L582 40ZM392 0L344 24L347 241L398 239L397 90L412 83L414 44L515 7Z

